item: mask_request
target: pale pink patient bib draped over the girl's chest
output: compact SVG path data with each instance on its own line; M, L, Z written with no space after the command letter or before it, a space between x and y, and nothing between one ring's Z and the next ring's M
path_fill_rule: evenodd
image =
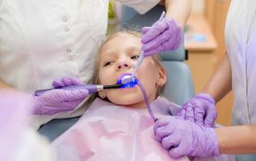
M162 111L167 110L168 105L162 108L166 108ZM160 115L158 113L157 117ZM187 160L171 159L168 151L157 142L153 120L146 109L114 105L99 98L76 124L52 142L52 146L59 160Z

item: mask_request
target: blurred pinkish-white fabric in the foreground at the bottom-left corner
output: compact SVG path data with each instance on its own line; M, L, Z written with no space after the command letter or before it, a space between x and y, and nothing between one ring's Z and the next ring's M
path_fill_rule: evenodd
M0 160L55 161L55 151L36 130L27 126L31 101L27 94L0 90Z

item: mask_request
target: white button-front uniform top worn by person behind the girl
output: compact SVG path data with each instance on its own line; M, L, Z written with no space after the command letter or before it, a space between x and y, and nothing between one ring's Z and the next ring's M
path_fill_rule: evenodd
M119 0L141 14L159 1ZM0 0L0 78L29 93L62 76L90 83L107 10L108 0ZM40 116L35 126L82 112Z

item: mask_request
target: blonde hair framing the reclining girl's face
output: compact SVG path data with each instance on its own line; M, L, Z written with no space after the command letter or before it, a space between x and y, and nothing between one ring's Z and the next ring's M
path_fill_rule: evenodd
M106 37L106 39L104 39L103 41L103 44L101 45L101 47L99 48L99 52L97 53L97 56L96 56L96 62L95 62L95 67L94 67L94 74L93 74L93 80L92 80L92 83L95 84L95 85L99 85L100 84L100 81L99 81L99 61L100 61L100 53L102 51L102 48L103 46L111 39L114 39L117 35L120 35L120 34L128 34L128 35L133 35L133 36L136 36L138 38L141 38L141 33L140 32L137 32L137 31L119 31L119 32L116 32L115 34L113 35L109 35ZM157 55L153 55L151 56L154 63L162 68L164 71L166 71L166 69L163 67L163 65L161 64L160 62L160 59L159 59L159 56ZM161 95L161 92L162 90L164 89L164 85L162 87L159 87L157 88L157 96L160 96ZM157 97L156 96L156 97ZM96 97L99 97L98 95Z

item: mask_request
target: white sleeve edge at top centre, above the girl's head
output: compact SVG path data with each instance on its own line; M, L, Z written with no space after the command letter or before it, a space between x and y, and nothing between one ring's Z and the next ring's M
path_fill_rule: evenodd
M1 1L1 0L0 0ZM126 6L131 6L134 10L140 14L145 14L153 6L156 6L160 0L116 0Z

